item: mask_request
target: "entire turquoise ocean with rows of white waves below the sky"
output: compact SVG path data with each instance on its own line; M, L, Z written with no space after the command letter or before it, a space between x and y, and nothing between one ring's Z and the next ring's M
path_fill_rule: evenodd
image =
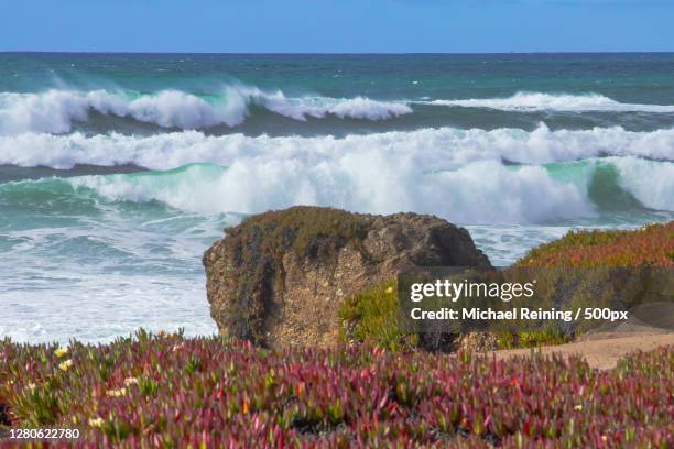
M0 337L216 331L202 253L292 205L508 265L674 219L674 54L0 53Z

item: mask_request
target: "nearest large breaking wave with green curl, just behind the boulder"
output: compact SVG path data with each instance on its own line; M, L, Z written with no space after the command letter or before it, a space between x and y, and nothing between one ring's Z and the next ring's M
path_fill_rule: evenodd
M544 165L478 161L428 172L372 153L315 161L251 155L227 167L189 164L165 172L6 183L0 204L42 204L45 191L57 196L50 198L52 207L61 201L68 208L73 196L91 207L94 195L112 202L160 201L197 213L316 205L434 213L464 223L545 223L628 208L674 211L674 163L635 157Z

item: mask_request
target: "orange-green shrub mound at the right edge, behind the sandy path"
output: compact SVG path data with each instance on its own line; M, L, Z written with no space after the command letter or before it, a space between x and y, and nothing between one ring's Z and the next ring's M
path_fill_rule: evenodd
M674 300L674 221L637 230L570 231L531 250L507 272L530 269L536 294L548 306L632 313L653 304L670 307L664 303ZM651 326L659 321L652 314L639 318ZM574 338L598 325L583 320L556 330Z

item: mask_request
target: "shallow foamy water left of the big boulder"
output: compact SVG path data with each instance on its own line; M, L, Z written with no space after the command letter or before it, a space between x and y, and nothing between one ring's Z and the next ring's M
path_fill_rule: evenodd
M52 220L29 204L23 210L21 221L0 229L0 336L67 343L110 341L140 327L217 332L200 254L222 236L227 217L101 205L97 213L74 208Z

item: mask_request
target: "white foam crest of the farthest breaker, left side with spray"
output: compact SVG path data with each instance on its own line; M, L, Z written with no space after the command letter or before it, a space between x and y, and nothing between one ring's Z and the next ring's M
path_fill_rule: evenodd
M0 134L25 132L65 133L73 123L88 120L91 111L128 117L164 128L203 129L242 123L248 106L260 105L279 114L304 121L308 117L385 120L411 113L404 102L376 101L366 97L289 98L281 90L227 86L208 100L180 90L132 96L128 92L52 89L40 94L0 94Z

